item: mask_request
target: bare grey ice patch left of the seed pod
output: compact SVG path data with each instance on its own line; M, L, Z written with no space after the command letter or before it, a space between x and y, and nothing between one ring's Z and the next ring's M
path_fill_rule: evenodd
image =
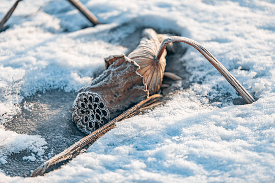
M25 99L20 104L21 113L4 124L5 129L19 134L40 135L47 142L45 154L41 157L33 154L33 160L23 160L23 157L31 156L32 153L20 151L19 154L9 156L7 163L0 165L0 169L10 176L29 176L31 170L84 137L85 134L71 120L76 95L52 90Z

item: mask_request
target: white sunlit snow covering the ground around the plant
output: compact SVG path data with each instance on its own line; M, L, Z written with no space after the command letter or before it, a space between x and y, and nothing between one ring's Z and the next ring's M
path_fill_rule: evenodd
M1 0L0 17L13 2ZM41 136L4 128L24 98L89 83L141 27L195 39L257 101L233 105L234 88L188 47L178 64L191 85L167 104L118 123L61 169L35 178L0 170L0 182L275 182L273 0L81 2L104 24L82 29L89 22L65 0L25 0L0 33L0 164L22 150L35 161L47 147Z

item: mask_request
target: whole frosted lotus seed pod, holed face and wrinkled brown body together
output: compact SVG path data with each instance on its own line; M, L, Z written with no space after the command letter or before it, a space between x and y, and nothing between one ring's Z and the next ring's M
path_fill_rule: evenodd
M79 122L78 128L85 133L91 133L98 126L106 124L107 120L109 121L106 116L96 118L96 114L100 116L100 114L104 115L107 112L107 116L113 119L149 96L144 79L137 72L140 66L133 60L124 54L118 54L105 57L105 63L108 68L93 79L90 84L78 90L80 94L73 105L73 109L77 112L77 115L76 112L73 113L73 119L75 123L81 122ZM89 97L85 97L86 95ZM89 102L90 97L96 100ZM85 110L79 109L78 106ZM103 106L104 111L101 108ZM89 110L90 108L91 110ZM87 113L89 115L91 113L91 116ZM88 117L86 117L87 115ZM83 128L85 129L83 130Z

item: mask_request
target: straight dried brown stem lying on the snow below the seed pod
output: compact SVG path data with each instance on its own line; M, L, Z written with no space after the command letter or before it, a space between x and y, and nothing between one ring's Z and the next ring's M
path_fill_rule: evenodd
M115 119L113 119L110 123L104 125L98 130L94 131L90 135L80 139L78 142L71 145L69 148L65 149L62 153L52 157L41 166L39 166L36 170L33 171L31 177L35 177L38 175L43 175L46 170L51 170L55 165L62 165L72 158L76 157L80 153L84 152L90 145L92 145L96 140L98 140L102 135L107 133L116 127L116 123L123 119L127 119L133 116L136 112L140 111L140 109L147 107L153 103L155 103L161 95L152 95L149 98L141 101L140 103L134 105Z

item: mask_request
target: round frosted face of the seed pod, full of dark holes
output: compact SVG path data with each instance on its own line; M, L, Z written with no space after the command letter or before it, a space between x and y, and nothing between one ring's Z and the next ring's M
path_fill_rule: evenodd
M73 103L72 118L80 131L90 134L109 123L110 112L98 94L82 92Z

